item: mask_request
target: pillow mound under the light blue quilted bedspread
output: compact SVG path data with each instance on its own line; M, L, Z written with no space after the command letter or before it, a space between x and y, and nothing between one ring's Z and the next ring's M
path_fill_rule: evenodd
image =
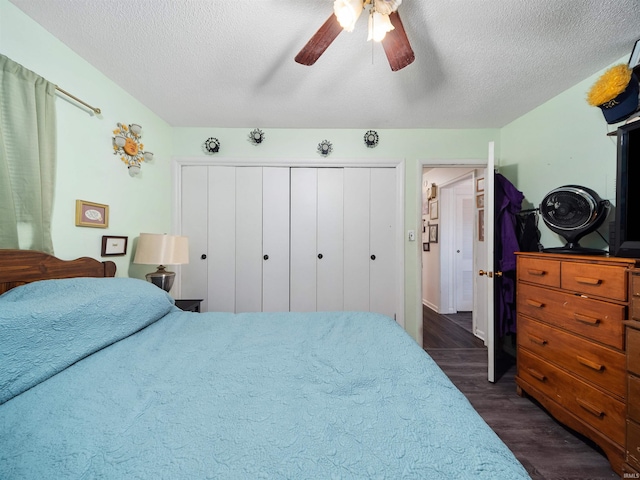
M68 278L0 295L0 404L175 309L133 278Z

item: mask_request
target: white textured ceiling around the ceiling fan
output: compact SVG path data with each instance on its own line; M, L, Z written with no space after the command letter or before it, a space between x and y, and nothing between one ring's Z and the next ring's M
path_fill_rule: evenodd
M638 0L404 0L416 60L392 72L366 15L294 62L332 0L10 1L181 127L501 127L640 38Z

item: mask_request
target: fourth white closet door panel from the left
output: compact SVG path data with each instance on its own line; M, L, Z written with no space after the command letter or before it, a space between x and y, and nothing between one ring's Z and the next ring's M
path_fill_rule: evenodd
M287 312L289 168L265 167L262 181L262 311Z

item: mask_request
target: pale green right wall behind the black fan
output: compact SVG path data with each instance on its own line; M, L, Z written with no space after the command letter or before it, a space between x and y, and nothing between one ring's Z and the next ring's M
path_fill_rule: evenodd
M624 58L615 64L626 61ZM528 207L537 207L548 192L563 185L591 188L615 204L616 137L607 133L615 131L616 125L607 125L600 109L586 102L587 92L604 70L501 130L500 171L525 194ZM612 210L600 228L605 238L613 218ZM540 231L545 247L565 244L542 220ZM580 244L606 247L596 233L586 236Z

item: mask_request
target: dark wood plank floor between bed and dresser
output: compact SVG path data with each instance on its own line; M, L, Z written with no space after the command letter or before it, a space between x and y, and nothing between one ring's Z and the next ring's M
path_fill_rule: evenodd
M484 343L424 307L424 349L511 449L534 480L616 479L607 458L588 439L556 422L530 398L516 394L515 365L487 381Z

